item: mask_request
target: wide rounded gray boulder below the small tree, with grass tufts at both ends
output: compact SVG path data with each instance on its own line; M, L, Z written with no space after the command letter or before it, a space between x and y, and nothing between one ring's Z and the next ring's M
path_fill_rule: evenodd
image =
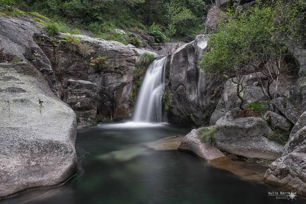
M246 158L275 160L283 154L283 146L268 140L264 134L271 132L262 118L247 117L218 120L215 140L217 148Z

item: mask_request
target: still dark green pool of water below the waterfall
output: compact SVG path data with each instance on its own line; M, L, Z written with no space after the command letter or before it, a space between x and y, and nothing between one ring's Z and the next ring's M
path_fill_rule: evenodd
M61 187L32 190L0 203L306 203L301 196L277 200L268 196L268 191L279 191L276 187L242 180L187 152L154 143L189 131L169 124L100 124L79 130L79 171L73 179ZM167 148L172 150L156 150Z

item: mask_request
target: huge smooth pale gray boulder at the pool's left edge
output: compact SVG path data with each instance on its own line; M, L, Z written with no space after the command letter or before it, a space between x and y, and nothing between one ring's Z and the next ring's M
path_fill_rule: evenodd
M27 60L0 63L0 198L76 172L76 119Z

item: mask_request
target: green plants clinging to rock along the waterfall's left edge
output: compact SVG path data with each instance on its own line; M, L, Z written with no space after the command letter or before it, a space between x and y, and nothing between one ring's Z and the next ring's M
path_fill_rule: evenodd
M155 56L150 53L144 53L140 56L139 62L136 64L136 68L133 71L133 90L130 93L130 99L132 103L135 103L138 91L143 82L145 73L152 61L154 61Z

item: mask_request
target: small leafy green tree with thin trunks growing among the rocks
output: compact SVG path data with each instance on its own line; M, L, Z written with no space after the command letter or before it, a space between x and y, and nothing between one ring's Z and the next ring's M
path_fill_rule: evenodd
M213 74L225 74L237 85L237 96L243 99L243 75L255 73L263 93L270 99L277 97L283 61L287 52L283 45L293 38L301 38L300 27L304 16L299 12L306 8L301 1L275 1L257 3L242 12L227 11L227 19L220 23L218 32L210 37L209 52L200 67ZM245 69L251 65L253 69ZM262 76L267 80L266 86ZM274 93L270 93L274 84Z

